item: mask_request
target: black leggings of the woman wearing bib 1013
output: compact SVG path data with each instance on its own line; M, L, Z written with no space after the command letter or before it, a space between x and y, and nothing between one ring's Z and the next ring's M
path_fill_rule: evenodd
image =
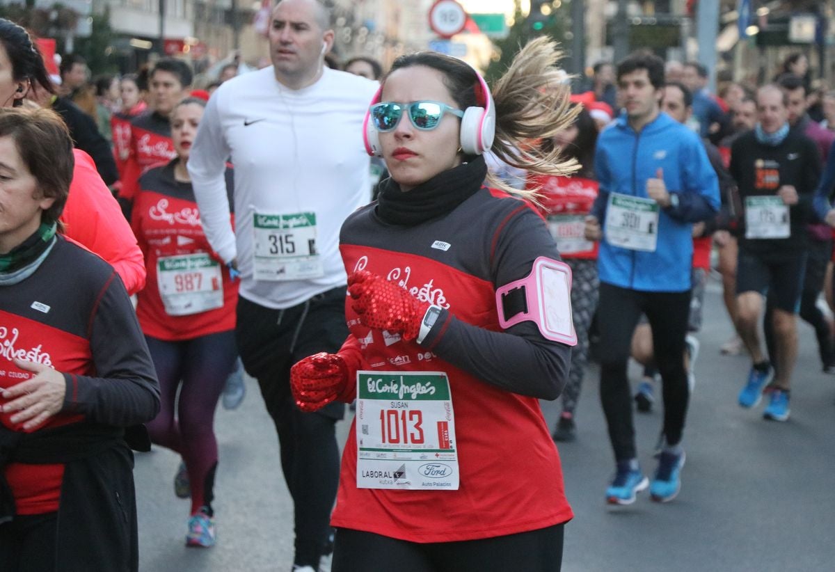
M438 502L443 502L439 494ZM478 518L473 515L473 518ZM337 529L333 572L559 572L564 524L492 539L419 544L380 534Z

